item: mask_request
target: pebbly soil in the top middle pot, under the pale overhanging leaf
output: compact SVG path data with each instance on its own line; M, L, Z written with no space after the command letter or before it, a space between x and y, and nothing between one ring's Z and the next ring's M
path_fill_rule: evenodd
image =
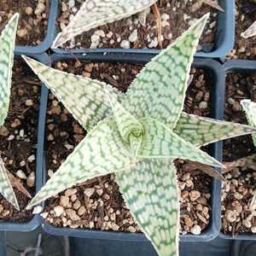
M197 7L198 1L162 0L158 7L162 20L162 44L166 48L177 37L179 37L195 19L210 12L211 17L203 36L201 37L198 49L206 52L214 49L214 37L217 31L218 11L207 4ZM81 1L76 0L75 6L70 7L68 0L61 1L61 15L59 27L67 26L69 18L75 15L80 9ZM109 23L106 26L99 26L84 32L74 40L67 42L64 48L156 48L159 49L157 40L157 28L154 14L147 17L145 26L139 22L137 15L130 18Z

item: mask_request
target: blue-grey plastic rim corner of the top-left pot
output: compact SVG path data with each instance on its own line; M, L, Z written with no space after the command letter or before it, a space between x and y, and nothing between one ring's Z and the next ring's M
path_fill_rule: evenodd
M50 0L49 8L49 18L46 36L44 41L37 46L15 46L15 52L20 52L21 54L43 54L46 50L49 49L51 44L55 39L55 19L58 15L58 0Z

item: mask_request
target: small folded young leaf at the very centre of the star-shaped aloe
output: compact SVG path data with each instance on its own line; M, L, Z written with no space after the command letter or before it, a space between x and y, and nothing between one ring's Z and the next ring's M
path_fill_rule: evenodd
M143 125L131 113L123 108L115 96L111 96L108 91L106 91L106 93L113 110L115 122L119 128L119 133L128 148L130 148L131 153L136 158L138 150L143 142Z

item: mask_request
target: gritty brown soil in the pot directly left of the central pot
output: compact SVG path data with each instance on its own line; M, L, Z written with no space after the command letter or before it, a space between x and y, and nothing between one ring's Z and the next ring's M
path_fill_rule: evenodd
M6 168L31 194L35 194L36 143L40 83L24 61L15 61L9 114L0 128L0 155ZM20 212L0 195L0 222L26 222L29 198L15 189Z

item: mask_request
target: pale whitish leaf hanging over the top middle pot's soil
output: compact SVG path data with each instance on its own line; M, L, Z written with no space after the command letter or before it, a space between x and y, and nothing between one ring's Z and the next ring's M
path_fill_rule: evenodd
M91 28L135 15L155 2L157 0L87 0L68 26L57 35L52 48L61 46Z

